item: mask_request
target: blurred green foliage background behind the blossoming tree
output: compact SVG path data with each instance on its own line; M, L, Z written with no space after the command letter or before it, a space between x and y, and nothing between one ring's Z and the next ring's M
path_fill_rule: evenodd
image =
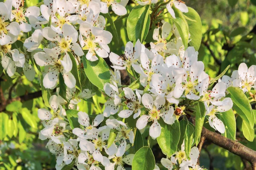
M228 65L230 69L227 75L236 70L241 62L246 62L248 66L256 65L256 0L183 1L201 16L203 38L198 58L204 62L205 70L210 77L216 77ZM29 6L38 2L38 0L27 0L26 4ZM125 20L119 21L118 24L120 22L122 24L118 29L125 26ZM106 29L108 28L109 26ZM121 29L120 33L126 34L125 29ZM122 43L126 43L125 38ZM10 87L15 83L15 89L8 94ZM25 78L13 81L4 76L1 77L0 87L6 97L23 96L40 90L36 79L33 82ZM85 104L93 108L93 104ZM0 126L6 128L6 134L0 134L5 136L0 140L0 170L55 169L54 156L45 148L46 142L38 139L38 132L43 126L37 117L37 110L43 107L43 100L38 98L23 103L12 103L6 108L5 113L0 114L0 125L8 125ZM254 139L254 142L245 140L240 129L241 120L238 118L237 139L256 150L256 140ZM154 154L156 158L159 157L159 153L154 152ZM160 154L161 156L163 155ZM200 165L209 170L250 170L248 162L207 142L201 152Z

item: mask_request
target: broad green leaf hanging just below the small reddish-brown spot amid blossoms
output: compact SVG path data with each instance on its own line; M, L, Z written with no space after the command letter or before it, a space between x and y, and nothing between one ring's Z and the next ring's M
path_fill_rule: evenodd
M157 142L162 152L170 157L177 151L177 145L180 140L180 125L178 121L175 121L172 125L159 121L161 125L161 134L157 138Z

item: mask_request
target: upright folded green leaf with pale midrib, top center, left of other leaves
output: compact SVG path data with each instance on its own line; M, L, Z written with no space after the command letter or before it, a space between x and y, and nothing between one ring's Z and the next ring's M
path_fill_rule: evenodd
M150 26L150 15L149 7L146 6L135 6L127 19L127 33L131 41L143 42L147 37L149 26Z

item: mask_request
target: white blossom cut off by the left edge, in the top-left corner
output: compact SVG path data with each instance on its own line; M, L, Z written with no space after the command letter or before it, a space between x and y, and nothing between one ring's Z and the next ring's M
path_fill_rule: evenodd
M0 45L14 43L20 34L20 25L17 22L7 22L11 20L12 0L0 2Z

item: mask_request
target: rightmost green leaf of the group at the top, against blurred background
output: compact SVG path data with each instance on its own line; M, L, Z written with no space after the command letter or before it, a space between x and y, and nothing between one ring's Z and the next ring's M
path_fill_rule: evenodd
M189 8L189 12L183 13L186 17L187 23L189 25L189 34L191 41L189 44L195 48L195 51L199 50L202 40L202 23L199 14L193 8Z

